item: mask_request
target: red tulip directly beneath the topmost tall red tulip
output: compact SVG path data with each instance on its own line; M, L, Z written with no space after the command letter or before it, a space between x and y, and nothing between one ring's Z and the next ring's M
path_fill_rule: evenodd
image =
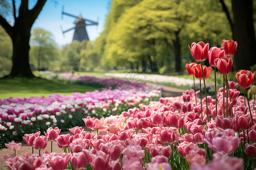
M214 63L222 75L229 74L232 70L233 59L230 57L222 57L214 59Z

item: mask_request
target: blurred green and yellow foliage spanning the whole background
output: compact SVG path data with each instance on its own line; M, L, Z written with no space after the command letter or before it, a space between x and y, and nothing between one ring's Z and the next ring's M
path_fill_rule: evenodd
M231 1L225 3L232 12ZM223 39L232 39L232 31L219 0L112 0L104 31L95 41L58 46L51 32L34 29L30 66L32 70L139 71L141 59L150 53L152 62L158 61L156 73L183 73L185 63L193 62L188 45L204 41L220 47ZM0 71L11 70L11 56L11 39L0 26Z

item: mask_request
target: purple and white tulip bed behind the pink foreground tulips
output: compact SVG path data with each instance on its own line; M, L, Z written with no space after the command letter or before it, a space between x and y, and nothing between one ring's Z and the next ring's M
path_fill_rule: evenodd
M131 84L131 83L130 83ZM129 84L129 86L131 86ZM123 85L123 84L122 84ZM50 126L68 130L84 124L85 115L106 117L119 114L140 103L158 100L159 87L146 86L60 94L49 97L25 97L0 100L0 148L11 140L19 141L25 133L44 131Z

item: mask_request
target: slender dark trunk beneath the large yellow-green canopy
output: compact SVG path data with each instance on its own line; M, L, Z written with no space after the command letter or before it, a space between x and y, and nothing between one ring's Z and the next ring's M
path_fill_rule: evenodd
M175 39L174 42L174 56L175 56L175 72L181 71L181 58L180 58L180 39L179 39L180 31L175 31Z

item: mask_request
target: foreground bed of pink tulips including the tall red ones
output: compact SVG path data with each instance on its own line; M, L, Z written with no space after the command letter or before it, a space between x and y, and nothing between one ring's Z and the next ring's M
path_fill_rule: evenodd
M10 169L254 169L255 97L249 100L248 96L239 96L238 83L228 81L225 75L231 71L229 58L236 50L236 42L223 41L222 45L224 49L210 52L209 44L204 42L191 45L196 61L219 57L214 66L224 75L224 87L215 91L215 99L207 96L206 91L202 99L201 91L199 97L195 89L188 90L182 96L161 97L119 115L83 118L90 132L75 126L69 129L71 134L59 135L57 127L48 128L45 135L40 135L40 131L25 134L24 141L36 154L15 156L20 144L6 143L14 150L14 154L3 157L6 166ZM203 63L187 65L187 70L200 82L212 71ZM246 70L236 74L240 86L246 91L251 87L253 95L256 94L256 86L252 86L254 75L255 72ZM51 150L41 154L47 141L57 142L63 153Z

